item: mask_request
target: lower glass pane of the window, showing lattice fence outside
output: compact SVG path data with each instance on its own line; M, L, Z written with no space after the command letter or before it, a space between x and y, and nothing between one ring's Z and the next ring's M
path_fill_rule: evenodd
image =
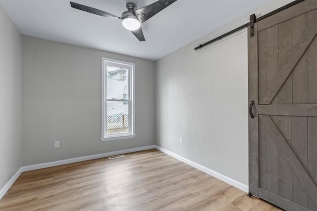
M107 101L107 134L129 131L128 102Z

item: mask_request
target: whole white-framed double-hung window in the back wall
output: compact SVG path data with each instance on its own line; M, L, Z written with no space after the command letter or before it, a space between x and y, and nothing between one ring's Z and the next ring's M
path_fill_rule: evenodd
M135 64L102 59L102 141L135 137Z

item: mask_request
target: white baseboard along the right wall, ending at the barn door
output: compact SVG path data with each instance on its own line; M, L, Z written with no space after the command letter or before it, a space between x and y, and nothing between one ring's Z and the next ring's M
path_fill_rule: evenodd
M234 186L236 188L239 188L240 190L243 190L246 193L249 192L249 186L248 185L245 185L245 184L243 184L241 182L238 182L237 180L234 180L234 179L232 179L230 177L227 177L227 176L225 176L225 175L223 175L223 174L221 174L221 173L219 173L217 171L208 169L207 167L204 167L204 166L202 166L200 164L197 164L197 163L195 163L193 161L190 161L190 160L188 160L186 158L183 158L183 157L181 157L181 156L179 156L179 155L177 155L177 154L175 154L173 152L170 152L170 151L168 151L166 149L163 149L163 148L161 148L159 146L155 146L155 148L157 150L159 150L159 151L161 151L161 152L173 157L173 158L176 158L177 160L180 160L180 161L184 162L185 164L188 164L188 165L190 165L190 166L192 166L192 167L194 167L196 169L199 169L201 171L204 171L205 173L208 173L211 176L216 177L217 179L220 179L220 180L222 180L222 181L224 181L224 182L226 182L226 183L228 183L228 184L230 184L230 185L232 185L232 186Z

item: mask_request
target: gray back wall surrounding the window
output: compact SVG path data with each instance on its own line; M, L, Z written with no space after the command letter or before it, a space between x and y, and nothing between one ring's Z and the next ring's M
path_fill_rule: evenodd
M133 139L99 139L102 57L136 64ZM153 61L23 36L23 166L155 144L154 76Z

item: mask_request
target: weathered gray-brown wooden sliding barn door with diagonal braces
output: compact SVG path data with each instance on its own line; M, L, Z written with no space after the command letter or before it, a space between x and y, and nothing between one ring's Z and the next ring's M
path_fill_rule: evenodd
M248 31L250 193L317 211L317 0Z

